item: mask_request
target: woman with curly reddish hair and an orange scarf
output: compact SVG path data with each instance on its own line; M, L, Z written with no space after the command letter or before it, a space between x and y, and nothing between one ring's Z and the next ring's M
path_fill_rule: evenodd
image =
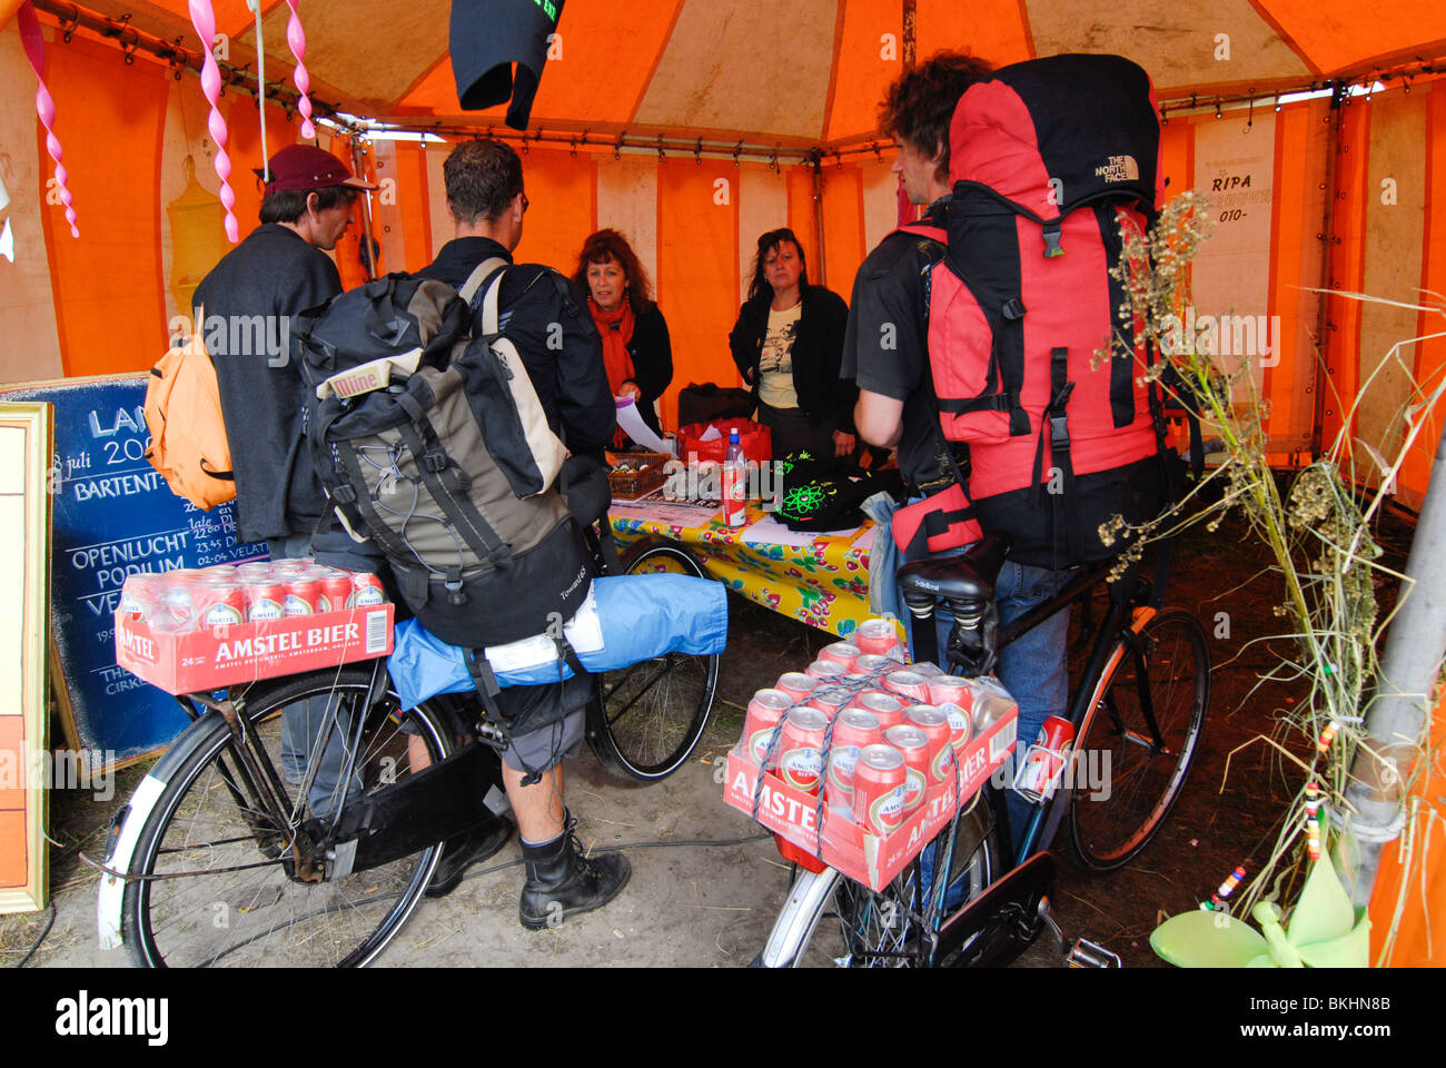
M603 337L613 397L633 398L642 421L661 434L654 404L672 381L672 343L638 255L617 230L599 230L583 242L573 281L587 294L587 310ZM625 441L619 430L616 444Z

